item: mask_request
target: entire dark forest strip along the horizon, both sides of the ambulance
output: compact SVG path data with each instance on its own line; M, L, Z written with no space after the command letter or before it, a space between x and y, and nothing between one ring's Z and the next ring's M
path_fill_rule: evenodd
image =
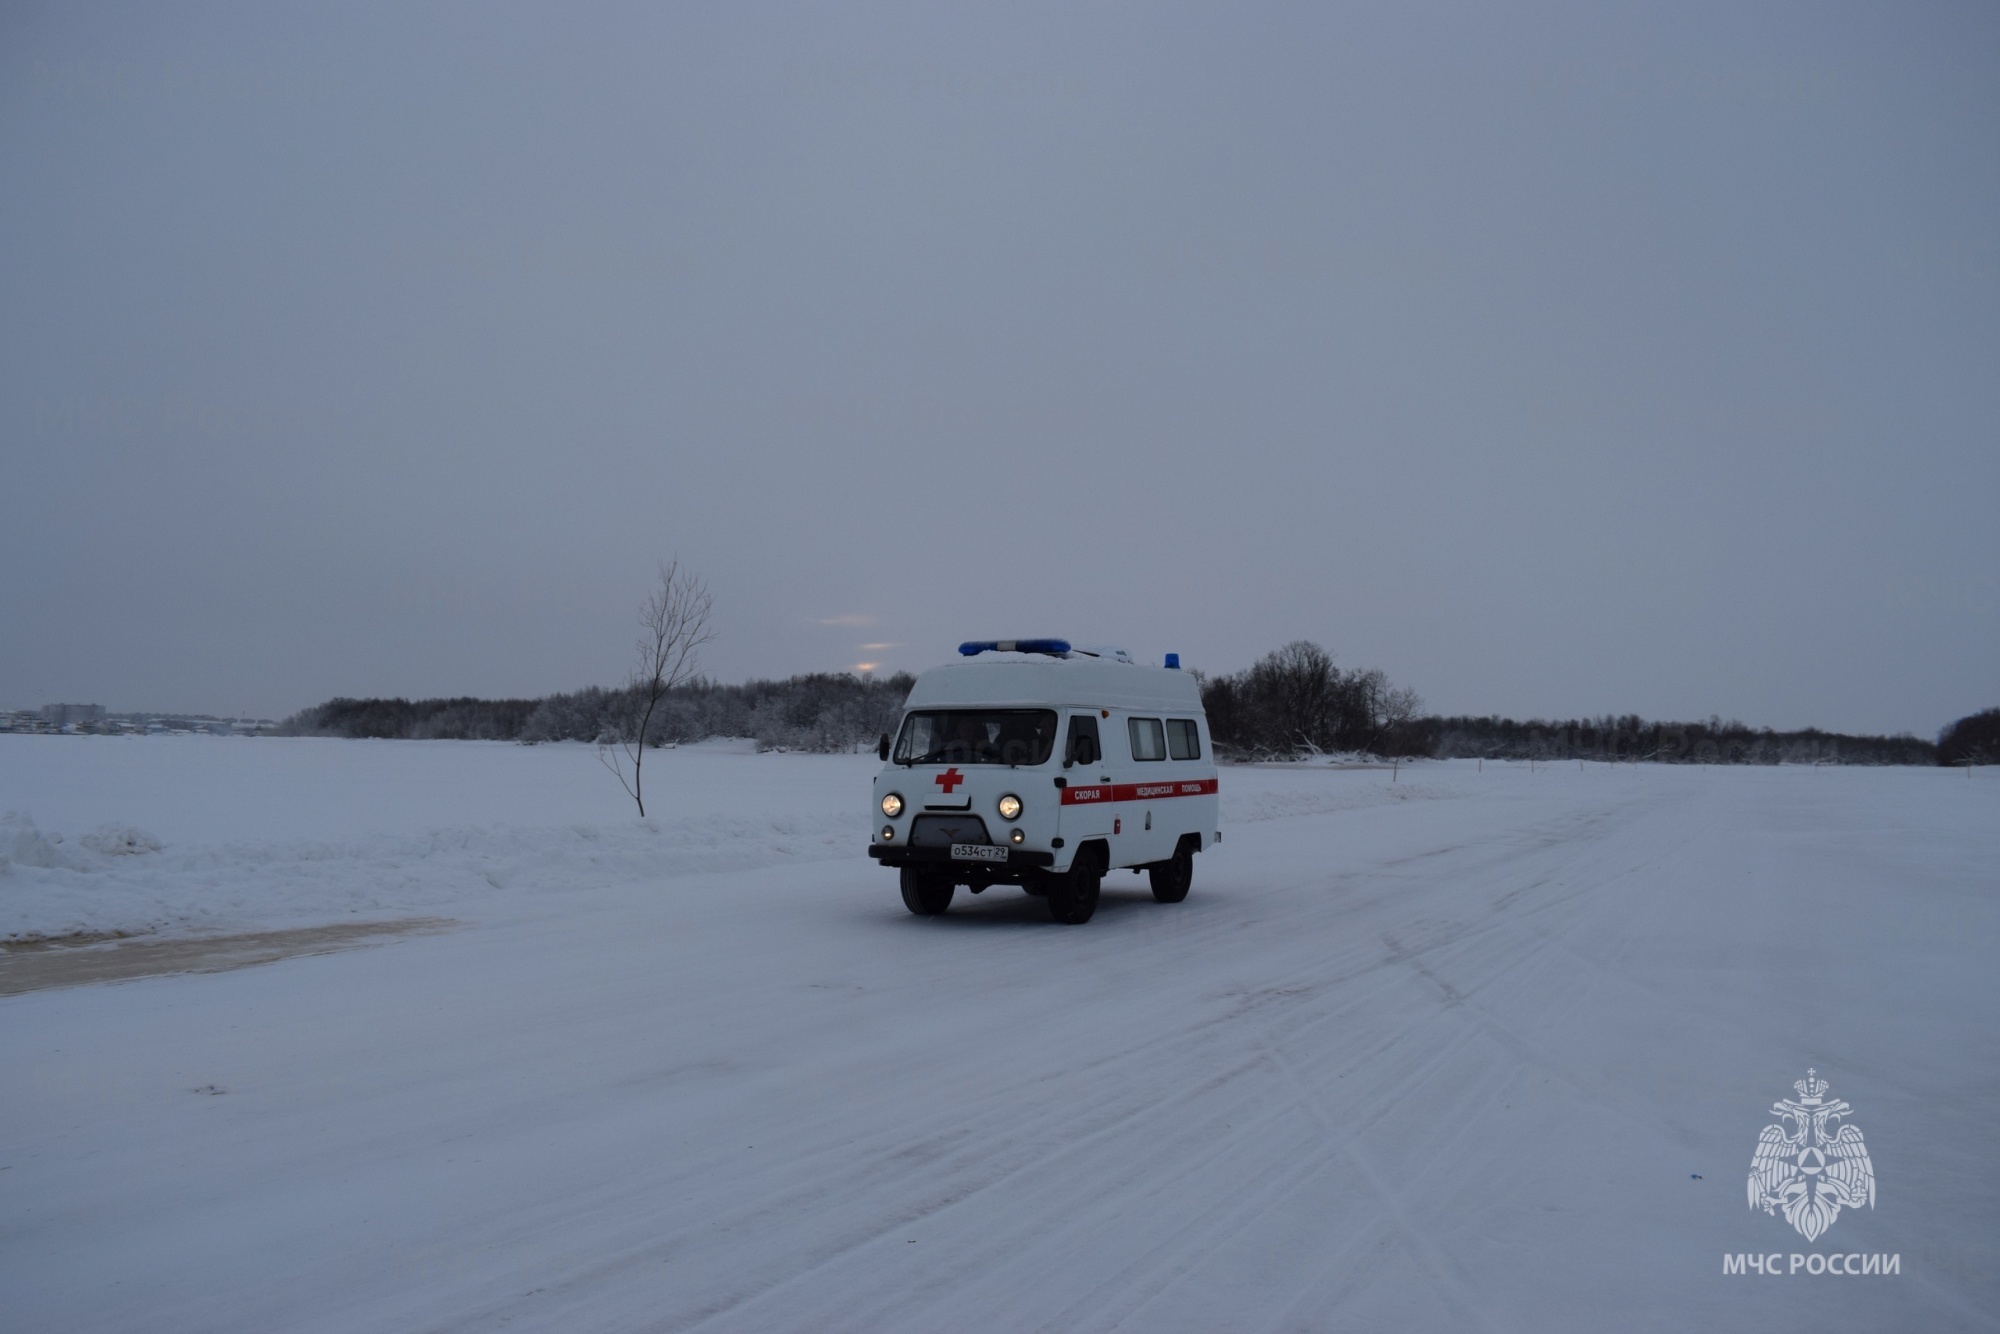
M1374 754L1444 760L1650 760L1662 764L1994 764L2000 710L1960 718L1940 744L1916 736L1774 732L1742 722L1650 722L1636 714L1570 720L1440 718L1376 670L1342 670L1294 642L1230 676L1194 674L1218 756L1298 760ZM842 752L896 726L916 678L812 674L724 686L696 680L662 704L658 742L754 738L762 750ZM542 700L328 700L286 718L282 736L380 736L602 742L632 728L632 690L588 688Z

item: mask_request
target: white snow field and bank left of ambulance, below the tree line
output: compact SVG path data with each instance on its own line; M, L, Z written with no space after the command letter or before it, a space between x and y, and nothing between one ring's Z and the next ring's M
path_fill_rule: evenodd
M662 750L640 820L586 746L4 736L0 802L34 810L0 818L0 938L490 918L854 856L874 764Z

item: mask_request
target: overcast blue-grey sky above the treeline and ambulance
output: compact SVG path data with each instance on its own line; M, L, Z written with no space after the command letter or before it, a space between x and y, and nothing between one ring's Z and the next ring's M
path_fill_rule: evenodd
M2000 704L2000 8L0 8L0 706Z

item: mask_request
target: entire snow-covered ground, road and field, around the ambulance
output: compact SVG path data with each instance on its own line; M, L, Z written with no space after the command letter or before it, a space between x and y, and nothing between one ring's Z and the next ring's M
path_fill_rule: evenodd
M2000 1326L1992 770L1224 768L1186 904L1062 928L908 916L872 768L0 736L0 934L460 922L0 998L0 1324Z

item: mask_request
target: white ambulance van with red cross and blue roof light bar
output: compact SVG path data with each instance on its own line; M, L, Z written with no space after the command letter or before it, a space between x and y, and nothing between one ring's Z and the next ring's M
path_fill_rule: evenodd
M960 884L1018 884L1080 924L1126 866L1162 904L1184 900L1194 854L1222 834L1208 718L1180 658L1138 666L1068 640L958 652L916 678L880 746L868 856L900 870L910 912L944 912Z

